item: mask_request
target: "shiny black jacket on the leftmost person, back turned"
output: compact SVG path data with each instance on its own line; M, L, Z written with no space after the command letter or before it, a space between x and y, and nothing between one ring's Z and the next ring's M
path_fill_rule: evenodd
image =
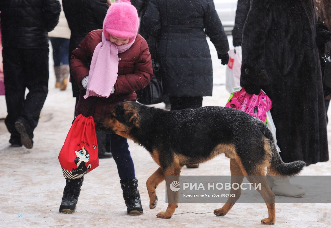
M59 22L58 0L0 0L2 45L48 48L48 34Z

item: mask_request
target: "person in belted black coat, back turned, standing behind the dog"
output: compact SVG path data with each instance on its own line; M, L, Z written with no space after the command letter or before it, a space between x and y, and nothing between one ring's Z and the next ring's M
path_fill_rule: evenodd
M157 39L157 61L171 110L201 107L202 97L212 96L213 89L206 34L222 64L229 60L227 36L213 1L151 0L143 23L150 28L149 36Z

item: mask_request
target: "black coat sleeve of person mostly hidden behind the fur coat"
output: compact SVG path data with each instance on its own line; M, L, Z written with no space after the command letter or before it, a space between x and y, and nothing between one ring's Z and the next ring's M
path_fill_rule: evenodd
M238 0L236 19L232 30L232 43L234 47L241 46L243 28L250 8L251 0Z

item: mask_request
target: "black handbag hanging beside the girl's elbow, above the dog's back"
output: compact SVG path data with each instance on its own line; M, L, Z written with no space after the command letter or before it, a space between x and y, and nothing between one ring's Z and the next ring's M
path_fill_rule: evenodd
M143 105L154 105L163 102L162 78L158 74L159 64L152 59L154 77L148 85L136 91L138 102Z

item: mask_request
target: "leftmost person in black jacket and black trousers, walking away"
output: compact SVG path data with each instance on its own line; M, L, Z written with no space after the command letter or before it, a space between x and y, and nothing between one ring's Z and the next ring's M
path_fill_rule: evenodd
M9 142L31 149L48 93L47 32L59 22L61 5L58 0L2 0L0 11Z

